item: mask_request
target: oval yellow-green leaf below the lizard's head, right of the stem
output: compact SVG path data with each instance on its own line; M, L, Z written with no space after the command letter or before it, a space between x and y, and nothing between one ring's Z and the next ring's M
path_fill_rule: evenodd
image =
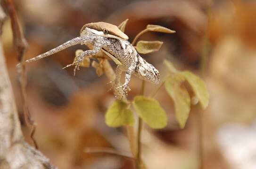
M157 100L144 96L136 96L132 102L136 112L153 129L161 129L167 125L165 110Z

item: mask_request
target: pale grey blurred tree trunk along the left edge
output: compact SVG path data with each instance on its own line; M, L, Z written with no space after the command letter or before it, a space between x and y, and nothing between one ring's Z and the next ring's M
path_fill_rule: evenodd
M0 25L5 16L0 6ZM1 27L0 27L1 31ZM0 169L57 169L22 135L0 39Z

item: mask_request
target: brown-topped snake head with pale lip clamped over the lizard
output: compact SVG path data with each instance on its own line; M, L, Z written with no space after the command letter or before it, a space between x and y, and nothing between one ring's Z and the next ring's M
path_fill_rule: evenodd
M102 31L104 34L114 35L116 37L122 38L127 40L129 37L124 34L116 25L105 23L105 22L98 22L98 23L87 23L83 25L83 28L80 31L80 34L85 30L85 28L90 28L96 31Z

